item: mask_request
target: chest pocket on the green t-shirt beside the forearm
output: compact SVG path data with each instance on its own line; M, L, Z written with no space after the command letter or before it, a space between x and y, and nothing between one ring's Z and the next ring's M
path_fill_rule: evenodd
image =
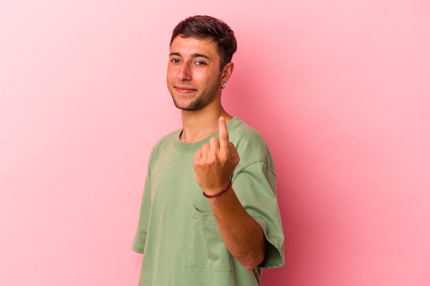
M231 254L225 247L214 213L201 213L192 208L188 235L188 267L218 272L234 270Z

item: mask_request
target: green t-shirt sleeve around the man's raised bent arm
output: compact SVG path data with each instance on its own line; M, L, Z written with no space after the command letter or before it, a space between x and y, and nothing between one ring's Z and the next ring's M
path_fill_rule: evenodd
M233 189L245 210L260 224L267 239L266 256L260 268L284 264L284 232L273 169L264 162L246 166L234 174Z

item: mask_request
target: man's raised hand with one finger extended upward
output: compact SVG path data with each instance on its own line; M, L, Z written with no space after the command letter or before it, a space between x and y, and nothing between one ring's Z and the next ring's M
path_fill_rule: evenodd
M210 143L203 144L197 150L193 162L196 181L208 195L227 187L240 160L236 147L229 141L224 117L219 118L218 128L219 140L212 137Z

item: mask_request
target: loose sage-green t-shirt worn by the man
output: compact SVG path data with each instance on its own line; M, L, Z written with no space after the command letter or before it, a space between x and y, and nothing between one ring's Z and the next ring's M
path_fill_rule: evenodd
M141 286L260 285L262 268L284 263L284 234L276 199L275 169L262 136L234 117L227 124L238 150L231 181L240 203L269 241L264 261L246 270L227 250L207 198L194 177L197 143L164 136L150 154L133 250L144 254Z

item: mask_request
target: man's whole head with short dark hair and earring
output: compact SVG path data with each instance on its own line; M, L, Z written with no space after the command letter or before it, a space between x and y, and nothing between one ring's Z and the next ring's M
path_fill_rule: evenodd
M210 16L185 19L170 41L167 86L174 105L185 111L220 106L236 51L233 31Z

